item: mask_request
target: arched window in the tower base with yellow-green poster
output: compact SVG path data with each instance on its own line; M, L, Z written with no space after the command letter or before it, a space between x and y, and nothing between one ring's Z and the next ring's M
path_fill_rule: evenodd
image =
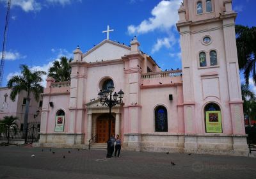
M205 131L207 133L222 133L220 106L215 103L205 105Z

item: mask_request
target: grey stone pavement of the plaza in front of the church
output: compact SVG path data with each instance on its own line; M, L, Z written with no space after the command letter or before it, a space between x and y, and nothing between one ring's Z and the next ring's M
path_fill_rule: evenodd
M0 146L0 178L256 178L256 158Z

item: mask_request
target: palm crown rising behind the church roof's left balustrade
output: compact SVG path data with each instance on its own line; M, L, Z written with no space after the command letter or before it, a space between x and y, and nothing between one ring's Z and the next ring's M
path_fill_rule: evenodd
M48 76L53 77L56 82L59 81L70 81L71 66L68 64L72 59L69 60L63 56L60 61L56 60L53 62L53 66L49 68Z

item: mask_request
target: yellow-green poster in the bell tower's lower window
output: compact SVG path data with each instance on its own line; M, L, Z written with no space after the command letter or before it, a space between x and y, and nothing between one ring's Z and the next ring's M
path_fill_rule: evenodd
M220 111L206 111L206 132L222 133Z

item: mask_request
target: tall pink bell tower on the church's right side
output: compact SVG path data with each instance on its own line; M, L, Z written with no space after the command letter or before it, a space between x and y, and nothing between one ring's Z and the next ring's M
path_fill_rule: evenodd
M231 0L184 0L180 6L177 29L187 152L248 152L236 16Z

